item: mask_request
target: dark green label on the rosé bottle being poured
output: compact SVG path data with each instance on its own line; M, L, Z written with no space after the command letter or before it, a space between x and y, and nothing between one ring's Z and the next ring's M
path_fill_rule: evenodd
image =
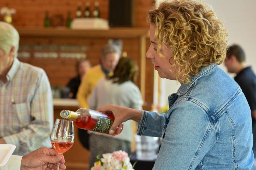
M113 124L113 120L98 117L97 125L93 128L93 131L101 132L101 133L109 133L109 130Z

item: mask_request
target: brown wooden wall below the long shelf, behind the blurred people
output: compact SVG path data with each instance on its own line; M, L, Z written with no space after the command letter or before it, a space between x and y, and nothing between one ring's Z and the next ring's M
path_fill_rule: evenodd
M21 45L84 45L89 47L85 51L88 60L91 64L97 65L100 62L101 48L107 43L109 39L99 38L67 38L67 37L22 37L20 39ZM139 61L139 42L137 39L122 39L123 51L126 51L128 56L133 58L135 62L140 65ZM33 56L34 50L30 50L32 57L22 58L19 60L30 63L34 66L41 67L46 71L49 81L53 86L65 86L68 81L76 76L75 63L77 59L72 58L35 58ZM140 79L138 79L139 82ZM137 83L137 85L139 85Z

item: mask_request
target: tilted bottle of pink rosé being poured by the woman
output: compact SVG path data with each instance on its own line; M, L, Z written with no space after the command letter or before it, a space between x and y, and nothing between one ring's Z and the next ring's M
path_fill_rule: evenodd
M102 113L90 109L80 108L77 111L62 110L60 113L64 119L74 121L80 129L109 134L109 130L115 120L113 114ZM119 124L112 136L118 135L123 130L123 123Z

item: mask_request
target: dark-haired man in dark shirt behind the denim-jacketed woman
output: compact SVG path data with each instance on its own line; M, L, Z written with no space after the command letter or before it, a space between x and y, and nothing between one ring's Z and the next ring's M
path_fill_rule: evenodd
M256 76L251 67L246 67L245 53L238 45L232 45L228 48L225 66L228 72L236 73L235 81L242 89L251 109L253 124L253 153L256 156Z

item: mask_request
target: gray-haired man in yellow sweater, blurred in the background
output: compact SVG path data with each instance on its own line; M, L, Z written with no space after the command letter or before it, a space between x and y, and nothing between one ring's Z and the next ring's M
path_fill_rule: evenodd
M99 79L109 77L113 74L115 66L120 57L120 50L117 45L106 44L101 49L101 63L92 67L83 76L77 92L77 100L80 108L89 108L87 99ZM89 148L88 134L86 130L78 129L79 139L85 148Z

